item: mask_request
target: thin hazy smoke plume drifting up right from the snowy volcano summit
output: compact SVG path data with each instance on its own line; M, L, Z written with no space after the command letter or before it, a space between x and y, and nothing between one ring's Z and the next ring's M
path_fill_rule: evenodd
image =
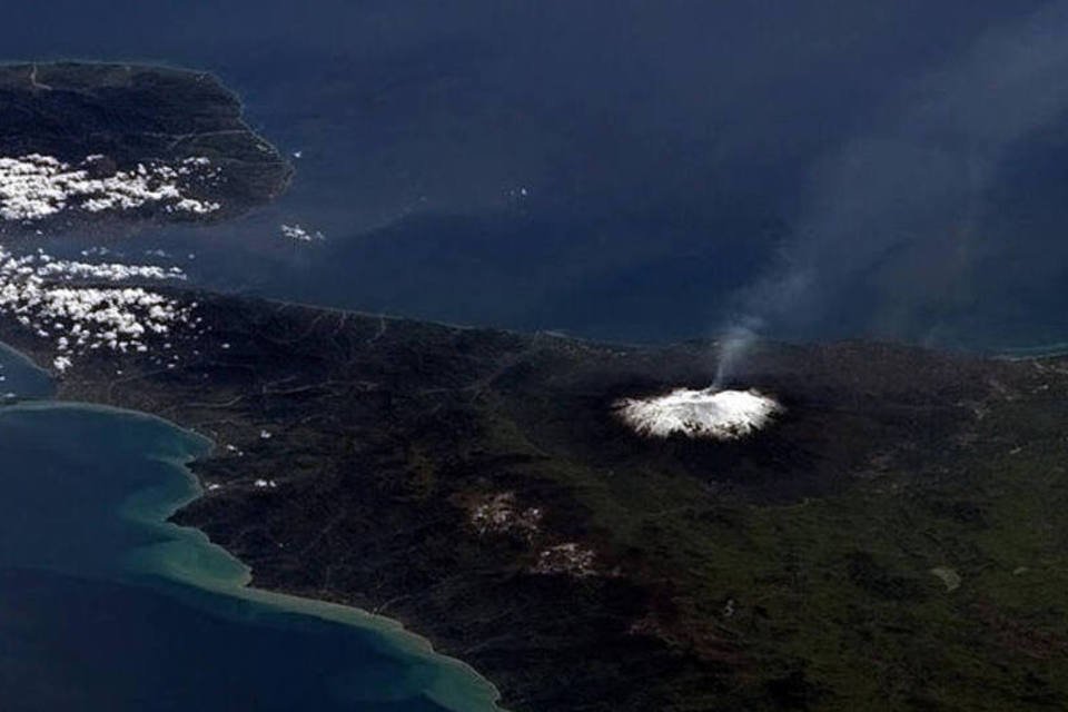
M1068 2L980 36L920 78L866 135L813 166L778 264L739 295L720 342L729 378L760 330L916 338L963 309L986 198L1013 145L1068 110Z

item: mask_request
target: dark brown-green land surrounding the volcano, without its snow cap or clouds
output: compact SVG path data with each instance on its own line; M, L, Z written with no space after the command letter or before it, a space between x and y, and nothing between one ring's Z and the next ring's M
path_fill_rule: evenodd
M88 354L61 395L215 437L180 522L260 586L405 621L511 709L1068 703L1061 362L765 346L771 429L646 441L610 405L705 385L706 345L196 299L174 367Z

